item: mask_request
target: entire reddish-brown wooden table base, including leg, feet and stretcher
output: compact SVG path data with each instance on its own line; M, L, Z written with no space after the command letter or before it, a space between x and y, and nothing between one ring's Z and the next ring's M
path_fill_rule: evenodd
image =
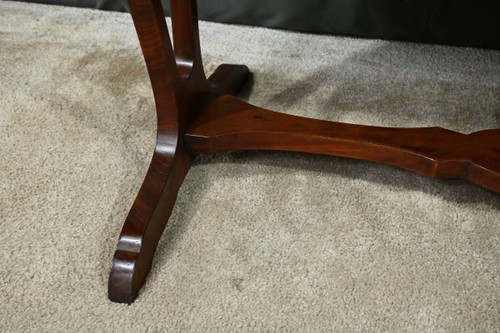
M156 102L157 142L125 220L109 298L132 303L151 268L195 154L286 150L365 159L429 177L464 178L500 192L500 129L469 135L439 127L384 128L277 113L233 95L248 68L221 65L206 79L196 0L171 0L173 47L160 0L129 0Z

